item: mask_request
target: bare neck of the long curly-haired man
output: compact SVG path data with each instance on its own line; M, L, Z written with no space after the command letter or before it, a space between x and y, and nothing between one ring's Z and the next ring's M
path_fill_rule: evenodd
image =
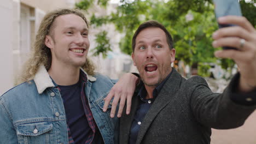
M52 63L48 73L57 85L70 86L79 81L80 67Z

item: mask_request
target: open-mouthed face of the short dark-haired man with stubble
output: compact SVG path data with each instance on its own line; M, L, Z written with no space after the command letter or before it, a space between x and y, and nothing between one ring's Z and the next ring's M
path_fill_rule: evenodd
M144 84L155 88L171 73L175 49L170 50L162 29L149 27L137 35L132 59Z

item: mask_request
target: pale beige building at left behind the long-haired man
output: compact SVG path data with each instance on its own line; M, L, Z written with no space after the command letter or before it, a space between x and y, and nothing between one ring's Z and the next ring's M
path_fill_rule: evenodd
M45 13L57 8L72 8L76 1L78 0L1 0L0 95L14 86Z

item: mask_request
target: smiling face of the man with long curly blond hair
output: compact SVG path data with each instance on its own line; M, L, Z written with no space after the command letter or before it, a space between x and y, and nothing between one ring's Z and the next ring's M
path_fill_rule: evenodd
M45 45L51 49L52 65L80 67L86 62L89 50L88 26L78 15L56 17Z

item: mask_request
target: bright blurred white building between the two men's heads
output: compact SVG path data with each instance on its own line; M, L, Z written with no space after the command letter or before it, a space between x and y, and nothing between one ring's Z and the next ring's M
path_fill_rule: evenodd
M95 7L91 8L90 14L95 14L95 16L106 16L115 12L118 7L117 3L109 3L106 9L102 9L99 5L95 4ZM90 49L94 49L97 46L95 43L95 35L101 31L107 31L109 42L111 44L112 51L108 52L106 58L102 56L92 57L92 53L89 52L89 56L97 65L97 72L107 75L112 79L118 79L122 74L127 72L136 72L137 69L133 66L132 58L130 55L122 53L119 49L119 41L124 37L123 34L115 31L115 26L113 24L102 25L101 27L90 26L89 40Z

